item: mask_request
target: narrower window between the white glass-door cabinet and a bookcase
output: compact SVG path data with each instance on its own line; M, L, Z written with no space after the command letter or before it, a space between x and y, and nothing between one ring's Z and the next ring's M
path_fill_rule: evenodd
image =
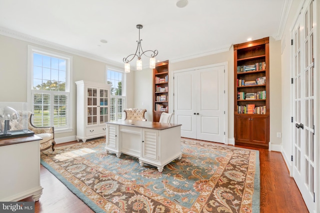
M107 69L106 81L111 84L110 121L122 120L125 108L125 74L121 71Z

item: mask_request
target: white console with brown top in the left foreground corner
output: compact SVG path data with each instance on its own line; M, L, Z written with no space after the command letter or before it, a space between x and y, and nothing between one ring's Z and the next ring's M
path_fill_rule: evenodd
M0 140L0 201L20 201L29 196L39 200L39 140L35 135Z

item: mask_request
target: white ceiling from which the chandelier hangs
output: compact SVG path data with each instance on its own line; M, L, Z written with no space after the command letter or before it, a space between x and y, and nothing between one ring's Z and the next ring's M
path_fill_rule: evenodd
M181 61L227 51L248 37L278 39L287 1L188 0L179 8L177 0L0 0L0 34L122 65L135 52L142 24L144 51Z

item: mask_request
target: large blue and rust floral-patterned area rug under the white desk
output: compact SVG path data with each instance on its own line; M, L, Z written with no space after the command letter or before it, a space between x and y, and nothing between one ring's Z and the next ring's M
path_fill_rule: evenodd
M106 154L104 143L41 153L41 164L96 213L259 213L258 151L181 139L182 158L159 173Z

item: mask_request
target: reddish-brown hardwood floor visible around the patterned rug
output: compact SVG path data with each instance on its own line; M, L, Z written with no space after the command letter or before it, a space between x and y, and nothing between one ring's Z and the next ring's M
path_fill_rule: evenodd
M72 144L57 144L55 147ZM302 196L289 176L281 153L266 149L236 146L259 151L260 213L308 213ZM35 202L35 213L92 213L42 165L40 167L43 194ZM31 197L22 201L33 201Z

